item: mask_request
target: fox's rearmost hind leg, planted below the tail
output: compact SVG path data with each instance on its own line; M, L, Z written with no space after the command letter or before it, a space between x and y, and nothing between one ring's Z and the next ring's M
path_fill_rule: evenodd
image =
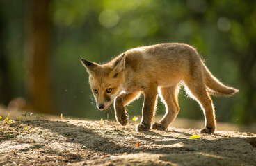
M216 130L214 106L205 84L203 81L198 83L197 80L194 82L186 82L186 86L188 86L189 90L198 100L202 110L204 111L205 128L201 129L201 133L214 133Z

